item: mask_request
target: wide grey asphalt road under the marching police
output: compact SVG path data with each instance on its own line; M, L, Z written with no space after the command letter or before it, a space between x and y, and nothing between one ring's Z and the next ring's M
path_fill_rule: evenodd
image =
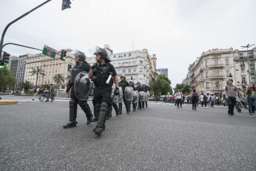
M0 106L0 170L256 170L256 115L245 109L231 117L221 106L123 106L98 137L80 107L77 127L62 128L68 100L18 100Z

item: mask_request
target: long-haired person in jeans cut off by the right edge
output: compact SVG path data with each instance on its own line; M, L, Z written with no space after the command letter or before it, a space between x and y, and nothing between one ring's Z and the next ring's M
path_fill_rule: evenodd
M247 101L249 105L249 116L253 117L252 115L252 104L253 106L256 106L256 88L254 83L250 83L250 85L247 87L245 94L247 95Z

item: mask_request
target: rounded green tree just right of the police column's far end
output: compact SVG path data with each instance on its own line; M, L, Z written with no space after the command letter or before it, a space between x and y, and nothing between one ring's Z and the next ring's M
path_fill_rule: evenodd
M170 86L170 80L164 75L159 75L156 81L150 86L151 88L153 88L154 94L156 96L160 94L164 95L168 92L170 92L170 94L173 94L173 89Z

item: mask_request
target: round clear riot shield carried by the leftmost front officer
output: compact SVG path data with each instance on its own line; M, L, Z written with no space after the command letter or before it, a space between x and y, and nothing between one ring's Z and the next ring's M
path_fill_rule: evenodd
M88 100L92 91L92 82L86 72L80 72L74 79L74 94L79 100Z

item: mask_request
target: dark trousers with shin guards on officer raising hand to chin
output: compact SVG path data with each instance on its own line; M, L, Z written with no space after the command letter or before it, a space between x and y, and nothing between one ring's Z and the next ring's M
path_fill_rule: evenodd
M94 89L94 97L92 103L95 106L95 117L97 118L96 128L105 129L106 116L108 107L111 105L111 93L112 87L106 86L99 88L98 86Z

